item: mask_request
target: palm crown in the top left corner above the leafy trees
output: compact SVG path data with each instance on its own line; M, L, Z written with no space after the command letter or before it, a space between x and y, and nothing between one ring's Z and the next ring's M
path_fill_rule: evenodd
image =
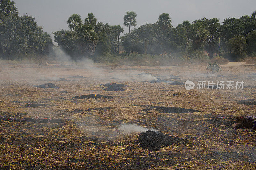
M15 6L14 1L0 0L0 13L5 15L10 15L10 14L18 15L18 8Z

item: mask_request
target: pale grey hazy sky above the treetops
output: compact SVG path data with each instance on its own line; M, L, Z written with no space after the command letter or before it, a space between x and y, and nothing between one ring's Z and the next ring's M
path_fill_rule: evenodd
M256 0L14 0L20 15L27 13L36 18L37 24L47 33L68 29L67 20L73 13L82 20L92 12L98 21L123 25L126 11L137 13L137 25L154 23L161 13L169 13L172 26L184 20L218 18L220 22L229 17L240 18L256 10ZM133 29L133 27L132 27Z

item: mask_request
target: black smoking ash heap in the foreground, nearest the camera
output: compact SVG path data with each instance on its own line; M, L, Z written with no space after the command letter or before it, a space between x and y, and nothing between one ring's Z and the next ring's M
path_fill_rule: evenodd
M151 131L148 130L143 132L138 137L139 144L143 149L148 149L151 151L157 151L161 149L162 146L168 146L171 144L188 144L188 140L179 137L170 137L164 135L161 131Z

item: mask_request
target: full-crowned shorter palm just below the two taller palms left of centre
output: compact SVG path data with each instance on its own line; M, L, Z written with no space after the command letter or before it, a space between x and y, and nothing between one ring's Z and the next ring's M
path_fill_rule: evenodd
M98 35L94 32L92 25L79 25L77 33L80 43L79 54L92 56L95 52L95 47L99 40Z

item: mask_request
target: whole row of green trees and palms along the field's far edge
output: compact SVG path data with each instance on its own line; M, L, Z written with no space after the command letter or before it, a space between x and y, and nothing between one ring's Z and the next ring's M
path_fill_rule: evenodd
M18 16L13 1L0 0L0 15L2 58L46 56L55 46L50 34L37 26L34 17ZM183 21L176 27L172 26L168 13L161 14L155 23L138 28L136 17L134 11L125 13L123 24L129 27L129 33L120 37L124 32L121 25L97 22L93 13L88 13L84 20L79 14L72 14L67 20L69 30L52 33L54 42L74 60L130 53L187 58L207 53L210 59L218 54L231 60L256 56L256 11L251 16L227 18L223 24L217 18L201 18L192 23ZM121 54L120 46L124 50Z

